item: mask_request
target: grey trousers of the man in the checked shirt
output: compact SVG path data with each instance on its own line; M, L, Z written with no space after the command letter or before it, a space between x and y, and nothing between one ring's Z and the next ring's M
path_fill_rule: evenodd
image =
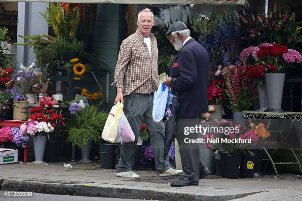
M150 133L151 146L154 152L154 161L157 174L161 174L171 168L169 157L163 159L165 130L162 121L153 122L153 95L130 94L124 97L124 113L135 135L133 142L121 144L120 159L116 172L132 171L134 162L135 147L137 139L143 125L143 118Z

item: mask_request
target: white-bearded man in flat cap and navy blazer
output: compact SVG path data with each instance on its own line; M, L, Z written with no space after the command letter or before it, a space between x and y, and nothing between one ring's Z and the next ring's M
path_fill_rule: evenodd
M210 174L199 158L199 144L184 142L184 126L198 123L198 116L208 111L207 89L209 83L209 55L204 47L190 37L183 22L174 22L166 33L170 42L179 51L169 68L169 77L164 82L178 94L179 108L176 117L178 128L174 132L180 145L184 177L171 186L198 186L199 179ZM198 134L187 135L197 139Z

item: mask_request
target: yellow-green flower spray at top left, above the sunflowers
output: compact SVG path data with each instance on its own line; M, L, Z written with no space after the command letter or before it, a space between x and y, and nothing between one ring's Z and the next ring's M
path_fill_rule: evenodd
M48 22L54 33L58 37L65 39L72 39L76 35L76 30L79 23L79 9L77 7L71 8L70 12L67 5L66 9L61 8L61 3L50 3L45 13L39 14Z

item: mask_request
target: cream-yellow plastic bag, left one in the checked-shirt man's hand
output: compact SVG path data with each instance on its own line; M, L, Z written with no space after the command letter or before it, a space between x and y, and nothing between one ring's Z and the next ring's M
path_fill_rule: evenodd
M122 112L123 104L120 102L117 102L116 105L113 105L111 108L102 132L102 138L106 141L114 142L117 135L118 119Z

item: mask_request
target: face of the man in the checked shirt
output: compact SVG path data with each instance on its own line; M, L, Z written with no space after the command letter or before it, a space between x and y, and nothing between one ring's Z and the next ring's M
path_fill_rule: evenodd
M140 19L137 20L137 26L139 31L144 36L149 36L151 29L154 26L154 21L151 12L141 12Z

